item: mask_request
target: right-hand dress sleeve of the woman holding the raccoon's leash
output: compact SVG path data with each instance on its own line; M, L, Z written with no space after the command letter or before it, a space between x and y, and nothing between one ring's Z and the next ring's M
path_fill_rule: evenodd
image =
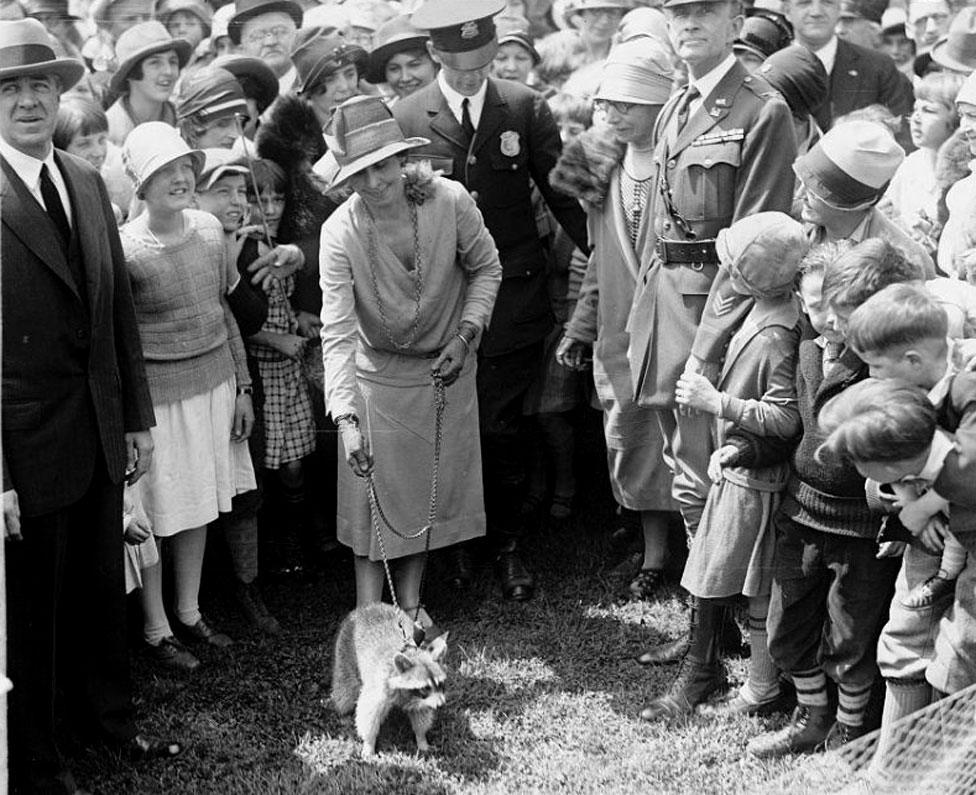
M488 326L495 296L502 282L502 266L498 249L485 227L481 211L465 190L455 193L457 218L457 246L461 267L468 277L468 289L464 295L461 321L473 324L479 330ZM322 283L323 291L325 283ZM323 310L323 320L325 318ZM323 332L324 333L324 332Z

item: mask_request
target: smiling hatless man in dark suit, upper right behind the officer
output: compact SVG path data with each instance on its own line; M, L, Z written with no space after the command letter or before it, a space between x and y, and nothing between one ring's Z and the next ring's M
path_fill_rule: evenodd
M786 16L797 43L812 50L829 76L827 102L814 114L820 129L854 110L884 105L895 116L908 116L915 102L912 84L887 55L839 39L840 0L786 0ZM906 125L898 142L914 149Z

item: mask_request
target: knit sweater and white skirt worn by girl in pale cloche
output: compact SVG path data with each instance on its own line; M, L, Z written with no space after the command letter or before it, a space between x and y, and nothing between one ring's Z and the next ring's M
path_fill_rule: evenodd
M184 218L171 245L138 220L120 230L156 415L152 464L136 484L156 536L208 524L256 488L247 442L231 440L236 387L250 377L225 298L223 228L199 210Z

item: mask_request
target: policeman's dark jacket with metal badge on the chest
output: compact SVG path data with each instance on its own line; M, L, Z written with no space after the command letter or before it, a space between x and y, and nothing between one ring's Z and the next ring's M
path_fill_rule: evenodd
M530 178L573 242L589 249L583 210L549 185L562 144L545 99L519 83L489 78L470 146L436 80L394 104L393 114L406 135L430 139L411 156L429 159L471 192L498 247L502 285L481 352L508 353L542 339L553 318Z

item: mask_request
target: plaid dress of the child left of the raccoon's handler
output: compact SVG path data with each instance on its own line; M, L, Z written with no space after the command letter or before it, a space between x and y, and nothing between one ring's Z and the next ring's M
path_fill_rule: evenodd
M295 279L273 283L268 293L268 319L261 330L271 334L297 334L298 321L289 302ZM315 420L301 361L259 342L248 350L257 362L264 384L264 465L279 469L315 450Z

